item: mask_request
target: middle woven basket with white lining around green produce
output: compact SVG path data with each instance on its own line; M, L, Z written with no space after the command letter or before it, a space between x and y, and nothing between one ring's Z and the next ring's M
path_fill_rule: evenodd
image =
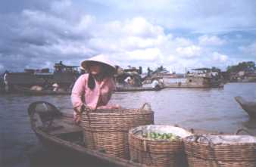
M186 157L183 141L152 140L143 138L143 133L173 133L181 138L192 135L183 128L170 125L146 125L133 128L129 131L130 157L134 162L147 166L186 166Z

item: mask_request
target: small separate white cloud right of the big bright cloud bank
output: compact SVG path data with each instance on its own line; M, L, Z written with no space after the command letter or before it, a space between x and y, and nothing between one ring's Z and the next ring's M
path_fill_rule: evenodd
M217 36L199 36L198 38L199 45L213 45L213 46L218 46L218 45L223 45L226 43L225 40L220 39Z

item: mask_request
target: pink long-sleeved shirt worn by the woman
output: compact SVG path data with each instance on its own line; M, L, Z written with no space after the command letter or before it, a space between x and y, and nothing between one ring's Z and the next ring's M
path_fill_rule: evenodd
M106 105L115 89L114 80L105 78L100 84L95 82L95 88L91 90L87 84L88 78L89 74L83 74L76 80L71 94L73 108L80 110L83 104L86 104L92 110L95 110L97 107L108 108ZM83 96L84 101L82 100Z

